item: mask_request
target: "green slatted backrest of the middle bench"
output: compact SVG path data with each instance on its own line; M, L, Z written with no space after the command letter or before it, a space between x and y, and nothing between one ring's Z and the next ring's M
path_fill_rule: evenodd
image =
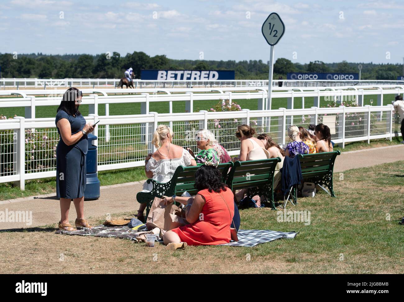
M227 177L227 185L231 191L259 187L274 182L276 164L279 157L258 160L236 161Z

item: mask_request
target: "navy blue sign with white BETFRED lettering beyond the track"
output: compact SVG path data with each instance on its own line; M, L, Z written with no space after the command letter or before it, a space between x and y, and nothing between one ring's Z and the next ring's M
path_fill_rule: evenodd
M234 70L142 70L141 80L234 80Z

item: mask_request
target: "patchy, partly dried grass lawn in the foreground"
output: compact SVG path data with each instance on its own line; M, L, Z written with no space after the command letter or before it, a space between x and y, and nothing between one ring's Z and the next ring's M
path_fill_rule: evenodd
M299 232L252 248L187 247L168 251L126 239L55 235L55 226L2 231L0 273L402 273L404 161L336 174L337 197L299 198L287 210L310 211L310 224L280 222L269 208L240 211L241 229ZM128 218L132 213L115 213ZM105 217L89 219L100 224ZM24 242L21 247L21 242ZM60 253L64 261L59 261ZM203 255L203 256L202 256ZM28 258L29 257L29 258Z

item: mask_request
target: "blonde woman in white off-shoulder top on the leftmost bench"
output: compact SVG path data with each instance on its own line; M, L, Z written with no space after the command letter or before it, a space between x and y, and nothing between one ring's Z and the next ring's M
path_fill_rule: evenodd
M153 154L149 153L145 158L145 173L147 178L158 182L168 182L178 166L196 166L194 157L183 147L174 145L173 130L166 125L159 125L153 135L151 143L157 148ZM143 192L150 192L153 184L145 182ZM143 212L146 203L141 203L137 218L144 221Z

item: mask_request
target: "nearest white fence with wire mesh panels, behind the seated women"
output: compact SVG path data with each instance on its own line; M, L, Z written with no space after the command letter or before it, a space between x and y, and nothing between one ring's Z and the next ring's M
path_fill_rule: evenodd
M90 100L90 99L87 99ZM91 99L94 101L94 99ZM288 142L290 124L308 127L309 124L335 120L335 143L368 142L370 139L397 136L399 126L393 106L363 106L310 109L277 109L231 112L199 111L189 113L149 112L141 115L86 117L95 123L98 140L98 170L112 170L144 165L147 153L154 151L151 138L158 124L170 124L173 143L197 151L194 134L199 128L211 130L230 155L239 153L240 142L235 136L237 126L249 124L258 133L268 133L276 143ZM106 129L109 128L109 139ZM0 120L0 182L17 182L24 189L24 181L56 176L56 146L59 135L54 118L26 119L15 117Z

